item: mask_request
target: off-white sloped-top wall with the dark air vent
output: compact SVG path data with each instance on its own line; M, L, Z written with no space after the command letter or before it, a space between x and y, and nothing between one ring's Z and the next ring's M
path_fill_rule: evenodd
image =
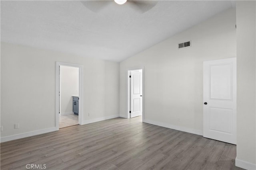
M235 24L230 9L121 62L120 116L127 117L126 69L144 66L144 121L202 135L203 61L236 57Z

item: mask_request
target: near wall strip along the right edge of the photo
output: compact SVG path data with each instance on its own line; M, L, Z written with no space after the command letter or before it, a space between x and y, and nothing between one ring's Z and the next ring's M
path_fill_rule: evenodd
M256 169L256 2L236 2L236 166Z

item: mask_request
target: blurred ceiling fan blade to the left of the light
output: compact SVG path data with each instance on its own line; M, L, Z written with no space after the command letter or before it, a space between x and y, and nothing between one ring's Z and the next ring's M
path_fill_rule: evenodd
M99 12L104 9L108 4L112 1L110 0L81 0L80 1L86 8L91 10L92 12Z

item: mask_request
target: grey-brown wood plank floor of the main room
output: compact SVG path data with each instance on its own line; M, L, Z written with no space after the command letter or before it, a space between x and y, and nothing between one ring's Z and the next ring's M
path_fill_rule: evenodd
M240 170L236 145L115 118L1 143L1 170L46 164L52 170Z

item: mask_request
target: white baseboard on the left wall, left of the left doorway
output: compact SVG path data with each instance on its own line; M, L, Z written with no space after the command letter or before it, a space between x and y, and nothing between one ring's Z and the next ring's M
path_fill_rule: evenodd
M41 129L41 130L37 130L37 131L31 131L31 132L26 132L26 133L20 133L20 134L16 134L16 135L10 135L10 136L6 136L6 137L1 137L1 143L2 142L7 142L7 141L12 141L15 139L21 139L24 137L30 137L30 136L34 136L34 135L40 135L43 133L49 133L49 132L53 132L56 131L56 127L50 127L47 129Z

